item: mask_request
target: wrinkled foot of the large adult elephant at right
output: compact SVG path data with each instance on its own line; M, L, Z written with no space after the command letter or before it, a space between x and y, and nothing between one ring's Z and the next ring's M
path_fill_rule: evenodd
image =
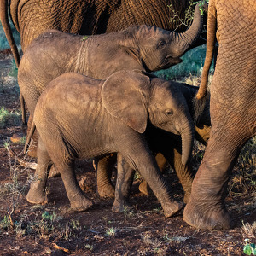
M226 210L218 206L200 204L200 201L190 199L184 208L183 220L201 230L225 230L230 228L230 217ZM216 204L215 204L216 206ZM208 210L207 210L208 209Z

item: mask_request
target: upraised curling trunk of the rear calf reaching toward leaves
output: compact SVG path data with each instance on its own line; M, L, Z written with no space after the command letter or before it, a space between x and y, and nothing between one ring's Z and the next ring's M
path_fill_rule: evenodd
M195 6L195 14L192 25L189 29L182 33L172 32L172 37L177 42L177 57L183 55L191 45L195 43L197 38L199 38L202 27L203 27L203 16L200 10L201 3L197 3ZM207 4L205 4L203 9L207 9Z

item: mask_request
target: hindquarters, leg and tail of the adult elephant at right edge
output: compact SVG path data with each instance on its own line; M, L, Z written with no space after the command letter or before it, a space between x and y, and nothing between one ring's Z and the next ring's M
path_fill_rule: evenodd
M212 130L192 183L184 220L200 229L228 229L230 217L224 205L227 183L242 146L256 134L255 3L210 0L207 24L207 56L198 98L205 95L217 31L219 47L210 103Z

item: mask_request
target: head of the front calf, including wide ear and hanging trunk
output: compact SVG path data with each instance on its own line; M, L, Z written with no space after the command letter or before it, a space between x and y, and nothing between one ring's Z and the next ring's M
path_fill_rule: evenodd
M120 71L103 84L102 102L108 113L139 133L146 130L149 119L152 125L181 135L182 163L187 163L193 147L194 124L176 83L139 72Z

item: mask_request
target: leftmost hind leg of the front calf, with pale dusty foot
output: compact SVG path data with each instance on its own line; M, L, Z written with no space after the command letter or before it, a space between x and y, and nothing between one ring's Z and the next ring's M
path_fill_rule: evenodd
M38 166L34 174L34 179L30 185L26 200L34 204L47 203L47 195L45 186L49 169L52 166L52 161L47 153L44 143L39 139L38 142Z

